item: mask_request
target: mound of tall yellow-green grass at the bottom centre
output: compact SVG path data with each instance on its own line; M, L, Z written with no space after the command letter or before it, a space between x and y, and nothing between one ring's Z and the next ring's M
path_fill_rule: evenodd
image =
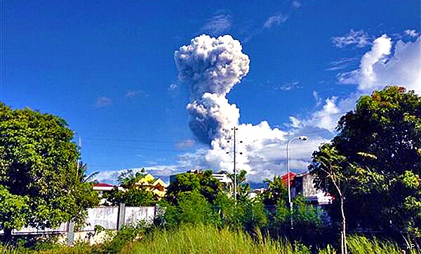
M123 248L122 253L310 253L305 246L293 247L289 242L253 240L242 231L222 230L211 225L182 225L178 230L156 230L146 239Z

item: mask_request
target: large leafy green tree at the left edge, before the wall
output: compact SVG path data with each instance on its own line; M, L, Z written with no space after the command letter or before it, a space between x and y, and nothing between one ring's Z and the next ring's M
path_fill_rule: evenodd
M74 133L62 118L0 103L0 227L57 227L98 204L80 181Z

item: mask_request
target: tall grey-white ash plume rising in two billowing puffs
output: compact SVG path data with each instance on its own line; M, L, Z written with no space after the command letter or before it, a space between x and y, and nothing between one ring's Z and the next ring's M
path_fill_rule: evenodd
M232 36L198 36L175 51L180 80L189 84L190 129L203 143L238 124L239 109L225 95L248 73L250 60Z

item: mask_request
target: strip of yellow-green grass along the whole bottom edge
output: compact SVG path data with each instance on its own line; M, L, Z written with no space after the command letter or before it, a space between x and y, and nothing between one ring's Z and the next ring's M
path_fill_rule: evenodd
M305 253L310 248L302 244L264 239L261 234L253 239L242 231L222 230L212 225L182 225L177 230L153 230L149 234L141 234L138 240L125 242L119 248L113 248L113 241L102 246L78 244L73 247L52 245L44 251L32 251L27 248L9 248L0 246L0 253L44 253L44 254L85 254L85 253L215 253L215 254L258 254L258 253ZM121 244L121 242L119 243ZM111 246L110 246L111 245ZM111 247L111 248L110 248ZM398 254L401 253L396 244L377 239L353 236L348 239L348 250L352 254ZM332 246L318 249L320 254L340 253ZM408 253L408 252L407 252ZM415 251L411 253L416 253Z

